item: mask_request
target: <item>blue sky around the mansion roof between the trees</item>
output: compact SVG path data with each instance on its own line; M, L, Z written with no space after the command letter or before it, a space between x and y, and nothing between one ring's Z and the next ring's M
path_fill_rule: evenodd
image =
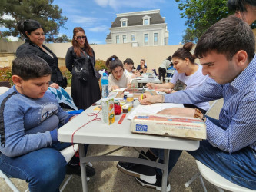
M168 45L178 45L185 30L185 18L181 18L178 3L175 0L54 0L54 4L62 8L62 15L68 18L65 28L60 34L72 38L75 27L85 29L89 43L105 44L111 22L116 14L125 12L141 12L160 9L168 26Z

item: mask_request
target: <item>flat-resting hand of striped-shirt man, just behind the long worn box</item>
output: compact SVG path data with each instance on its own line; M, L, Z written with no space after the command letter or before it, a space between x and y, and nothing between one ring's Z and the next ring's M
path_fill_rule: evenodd
M194 108L166 108L162 111L158 111L158 114L170 114L190 118L194 118L194 113Z

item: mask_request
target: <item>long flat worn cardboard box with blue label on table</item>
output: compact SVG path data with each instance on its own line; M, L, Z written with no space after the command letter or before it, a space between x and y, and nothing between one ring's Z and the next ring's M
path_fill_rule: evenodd
M206 139L206 126L201 119L165 114L136 114L131 120L131 132L195 140Z

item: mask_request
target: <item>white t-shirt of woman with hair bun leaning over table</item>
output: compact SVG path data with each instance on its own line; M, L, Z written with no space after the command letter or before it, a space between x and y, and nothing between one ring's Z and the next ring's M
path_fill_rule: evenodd
M186 76L185 73L179 74L177 71L175 71L170 81L172 84L175 84L174 90L192 90L201 86L201 84L203 84L204 81L208 79L208 75L204 75L201 70L202 66L198 65L198 71L196 71L194 74L191 74L190 76ZM208 110L208 108L210 107L208 102L198 103L194 105L204 110Z

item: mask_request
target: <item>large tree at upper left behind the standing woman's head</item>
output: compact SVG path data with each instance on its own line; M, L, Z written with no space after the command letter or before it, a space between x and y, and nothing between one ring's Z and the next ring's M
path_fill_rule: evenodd
M43 26L45 39L55 41L59 28L64 28L65 22L68 20L67 17L62 16L62 9L58 5L52 4L53 0L0 1L0 25L8 28L8 31L2 32L4 37L19 35L16 27L18 21L35 19Z

